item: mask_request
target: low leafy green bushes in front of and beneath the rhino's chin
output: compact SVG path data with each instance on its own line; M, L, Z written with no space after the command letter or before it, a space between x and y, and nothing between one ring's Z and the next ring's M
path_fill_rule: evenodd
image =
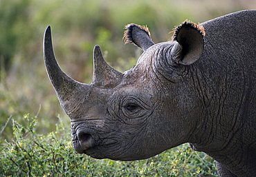
M37 134L36 116L26 125L12 120L13 138L2 143L1 176L217 176L212 158L181 145L147 160L97 160L77 154L70 128L62 122L55 132Z

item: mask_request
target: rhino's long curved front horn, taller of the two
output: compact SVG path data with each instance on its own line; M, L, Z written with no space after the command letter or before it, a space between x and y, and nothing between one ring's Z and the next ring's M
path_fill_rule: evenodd
M79 83L67 76L58 65L53 52L51 27L48 26L44 33L44 62L49 79L55 88L57 97L68 116L75 116L75 110L82 103L82 99L89 94L91 85ZM84 95L84 96L83 96Z

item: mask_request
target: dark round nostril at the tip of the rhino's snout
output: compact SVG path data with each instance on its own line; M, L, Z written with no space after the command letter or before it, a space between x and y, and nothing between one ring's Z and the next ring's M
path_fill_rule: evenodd
M79 140L82 150L84 151L93 147L94 145L93 136L83 130L77 131L77 138Z

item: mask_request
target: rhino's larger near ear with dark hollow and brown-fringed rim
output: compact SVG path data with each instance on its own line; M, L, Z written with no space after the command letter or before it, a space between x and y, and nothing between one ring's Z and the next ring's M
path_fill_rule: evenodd
M177 41L172 48L174 61L183 65L191 65L203 53L205 30L203 26L185 21L176 27L173 41Z

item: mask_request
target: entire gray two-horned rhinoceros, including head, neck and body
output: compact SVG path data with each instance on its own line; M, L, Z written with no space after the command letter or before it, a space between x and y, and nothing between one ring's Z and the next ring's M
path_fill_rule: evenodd
M256 11L183 25L154 44L129 26L144 50L120 73L94 49L93 83L62 72L44 37L48 76L71 118L73 147L93 158L137 160L183 143L217 160L219 176L256 176Z

